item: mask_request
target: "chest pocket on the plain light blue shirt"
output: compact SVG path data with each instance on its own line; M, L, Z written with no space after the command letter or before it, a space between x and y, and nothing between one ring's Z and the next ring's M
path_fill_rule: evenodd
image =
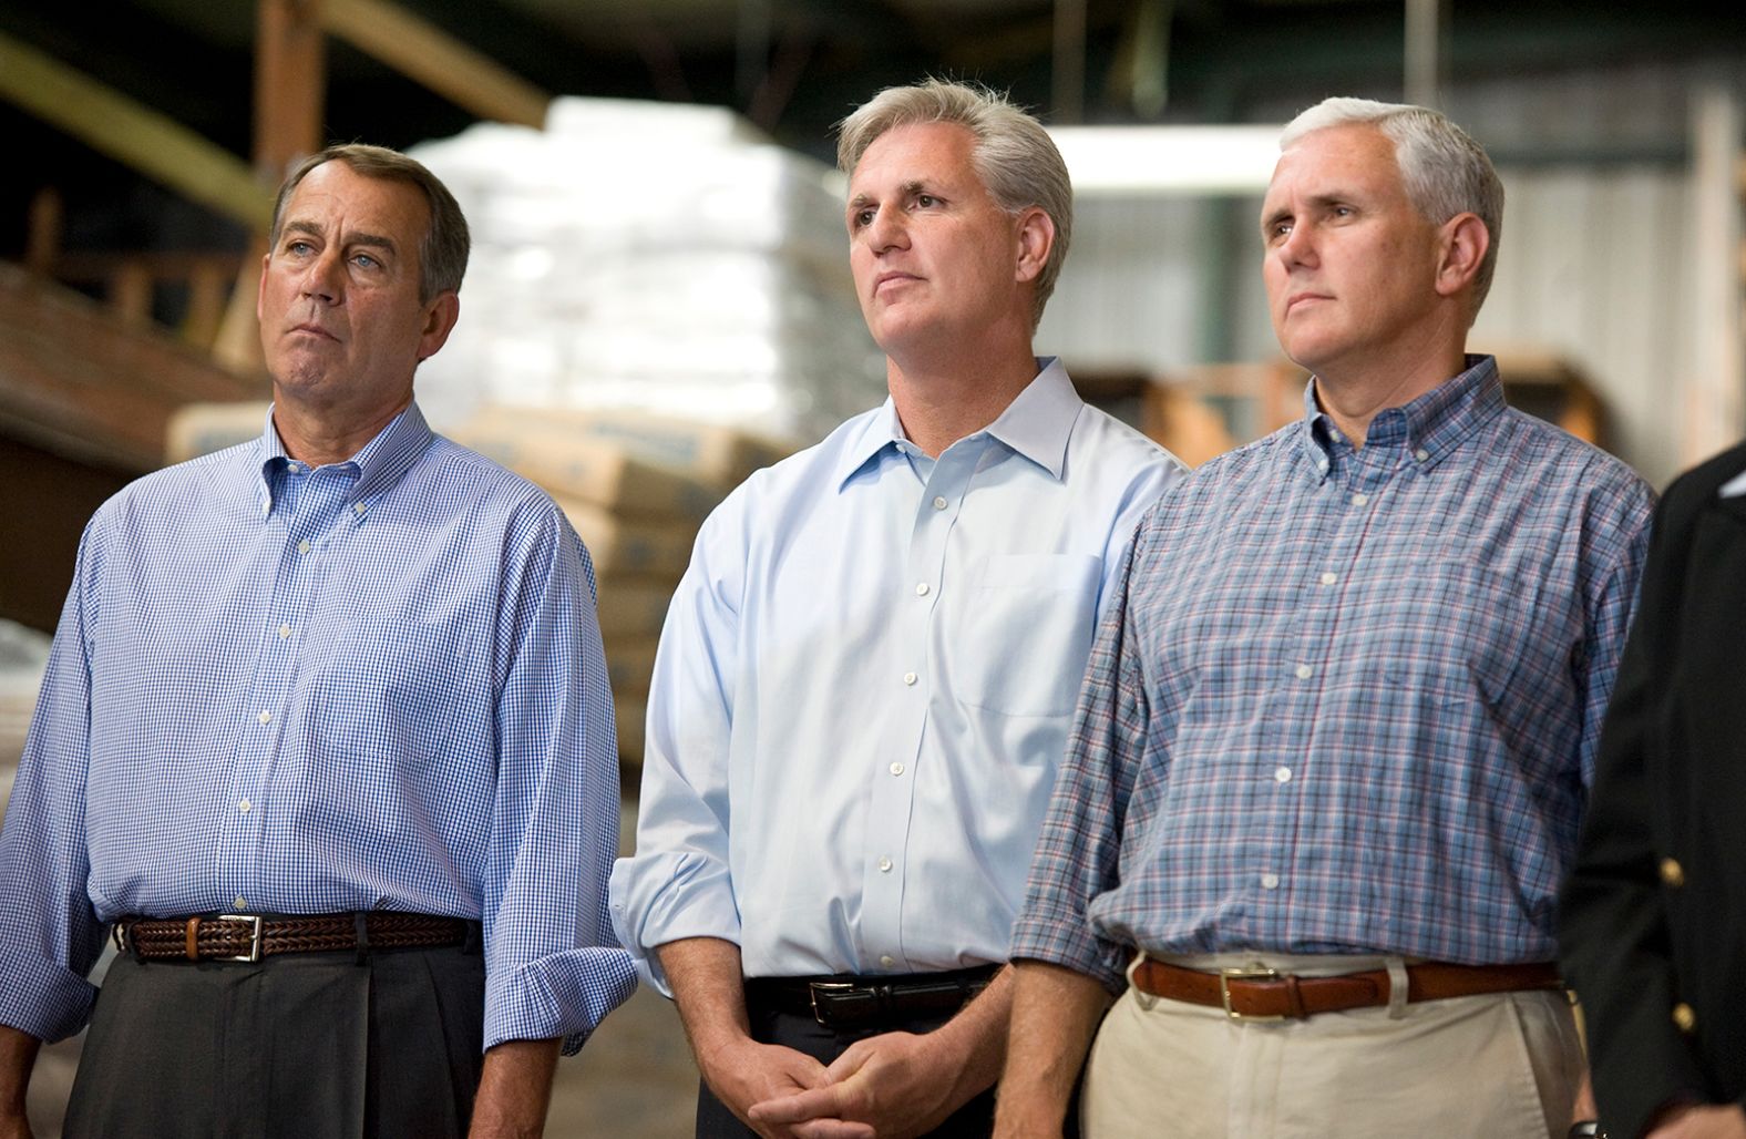
M957 699L1009 716L1070 713L1091 653L1102 568L1091 554L988 557L952 643Z

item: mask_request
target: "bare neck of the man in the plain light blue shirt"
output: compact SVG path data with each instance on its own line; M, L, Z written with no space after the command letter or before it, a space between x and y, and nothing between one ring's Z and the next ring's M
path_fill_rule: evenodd
M899 363L896 356L885 358L885 383L903 430L934 458L999 419L1035 377L1037 358L1030 344L974 360Z

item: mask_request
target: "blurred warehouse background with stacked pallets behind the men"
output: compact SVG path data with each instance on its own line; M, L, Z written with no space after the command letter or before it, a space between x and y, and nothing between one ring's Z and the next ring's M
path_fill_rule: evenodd
M974 79L1056 133L1072 253L1037 348L1191 463L1301 414L1259 276L1278 128L1435 105L1509 192L1472 348L1664 486L1746 431L1746 7L1619 0L87 0L0 5L0 793L91 510L262 428L271 190L410 148L475 252L431 421L546 486L601 570L634 823L655 636L751 470L883 398L831 124ZM58 1134L77 1041L33 1094ZM557 1136L676 1136L695 1071L637 994Z

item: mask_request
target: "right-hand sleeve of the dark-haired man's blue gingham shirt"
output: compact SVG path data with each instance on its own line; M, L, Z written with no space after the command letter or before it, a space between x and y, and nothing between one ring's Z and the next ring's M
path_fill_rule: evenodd
M606 908L618 739L581 542L550 507L506 559L484 1043L564 1036L569 1053L636 989Z

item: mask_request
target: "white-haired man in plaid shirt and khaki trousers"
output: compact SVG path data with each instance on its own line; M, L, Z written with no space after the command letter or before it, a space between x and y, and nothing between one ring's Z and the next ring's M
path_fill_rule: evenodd
M1652 494L1467 355L1502 208L1435 112L1285 129L1262 274L1306 414L1140 524L1014 928L1000 1136L1060 1134L1088 1046L1098 1137L1582 1115L1552 915Z

